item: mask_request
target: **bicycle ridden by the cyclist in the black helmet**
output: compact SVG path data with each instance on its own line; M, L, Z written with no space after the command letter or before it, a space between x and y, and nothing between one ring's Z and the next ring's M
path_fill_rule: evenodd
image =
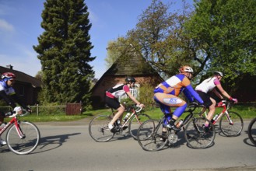
M132 112L131 115L128 116L127 120L124 120L123 124L118 124L118 122L120 122L119 119L115 122L114 126L119 127L120 131L112 133L107 126L114 116L114 110L111 110L112 113L109 115L96 116L89 122L89 135L93 140L98 142L110 141L110 139L114 137L114 134L122 134L124 129L127 128L126 124L128 124L128 132L136 139L138 129L135 128L135 124L140 125L142 121L150 119L149 115L139 113L142 110L141 106L134 105L129 109Z

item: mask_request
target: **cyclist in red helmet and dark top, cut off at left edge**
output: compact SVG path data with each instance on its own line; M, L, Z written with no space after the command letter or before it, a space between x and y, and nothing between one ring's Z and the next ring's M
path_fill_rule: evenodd
M4 99L5 102L12 106L13 109L16 108L16 103L19 103L20 106L23 106L25 110L28 110L31 112L30 107L26 106L21 99L16 95L15 90L12 88L13 83L15 82L16 75L14 75L12 72L5 72L1 76L0 81L0 99ZM16 108L17 109L17 108ZM21 111L20 111L21 112ZM5 113L0 113L0 125L4 127L4 118ZM6 145L6 142L2 140L0 137L0 145Z

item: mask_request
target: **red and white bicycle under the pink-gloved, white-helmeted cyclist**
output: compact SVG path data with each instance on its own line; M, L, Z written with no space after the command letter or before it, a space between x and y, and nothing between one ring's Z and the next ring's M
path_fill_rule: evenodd
M244 120L240 114L236 112L229 111L233 103L230 100L222 100L217 104L216 107L222 107L223 110L213 117L212 124L216 124L219 120L219 129L223 132L226 137L236 137L240 135L244 127ZM205 117L207 116L207 111L205 110ZM225 116L225 117L224 117Z

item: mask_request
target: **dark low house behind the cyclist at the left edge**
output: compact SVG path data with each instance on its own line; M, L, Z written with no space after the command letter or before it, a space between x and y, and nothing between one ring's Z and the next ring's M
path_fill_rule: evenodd
M16 75L16 82L13 88L16 94L23 99L27 105L34 105L37 103L38 92L41 89L41 81L23 72L16 71L9 65L10 68L0 66L0 74L4 72L12 72Z

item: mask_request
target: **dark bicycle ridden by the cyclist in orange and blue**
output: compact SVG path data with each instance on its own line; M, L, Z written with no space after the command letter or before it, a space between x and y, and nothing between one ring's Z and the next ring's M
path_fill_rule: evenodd
M205 131L204 124L207 120L205 117L195 117L195 109L200 107L197 103L188 105L184 113L188 115L184 118L184 122L179 126L184 129L184 137L191 148L207 148L212 145L215 139L215 129L212 123L209 123L209 131ZM139 126L137 140L139 145L146 151L159 151L165 145L174 145L177 140L177 133L173 129L167 128L167 134L162 133L163 120L146 120Z

